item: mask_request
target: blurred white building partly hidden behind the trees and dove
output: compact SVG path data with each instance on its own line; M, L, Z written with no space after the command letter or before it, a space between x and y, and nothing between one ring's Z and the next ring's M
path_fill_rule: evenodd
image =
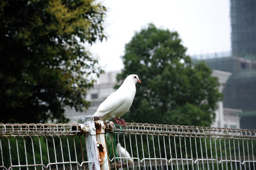
M86 95L86 100L91 102L91 107L88 110L84 112L76 112L73 109L66 110L65 114L70 119L70 122L81 122L85 115L93 115L95 113L99 105L115 91L114 86L117 84L116 75L119 72L107 72L99 77L98 83ZM213 70L212 76L219 78L221 84L219 90L222 92L231 73ZM216 116L212 127L240 128L239 112L242 112L242 110L223 108L223 102L218 102L218 109L215 112Z

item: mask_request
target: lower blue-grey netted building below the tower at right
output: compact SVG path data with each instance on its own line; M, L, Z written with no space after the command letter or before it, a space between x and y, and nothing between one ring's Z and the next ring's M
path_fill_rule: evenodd
M213 70L232 73L223 90L223 106L243 110L239 114L240 127L256 129L256 58L237 57L231 52L196 55L191 58L195 62L204 60Z

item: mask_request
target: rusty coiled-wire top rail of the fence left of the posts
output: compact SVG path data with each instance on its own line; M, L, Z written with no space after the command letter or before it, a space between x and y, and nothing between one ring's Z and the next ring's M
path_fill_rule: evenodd
M0 137L5 136L68 136L83 135L89 132L84 124L55 124L55 123L0 123Z

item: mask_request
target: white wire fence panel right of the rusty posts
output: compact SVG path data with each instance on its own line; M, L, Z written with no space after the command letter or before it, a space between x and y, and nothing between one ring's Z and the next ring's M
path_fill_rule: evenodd
M113 153L111 169L255 170L256 166L255 130L129 123L106 136Z

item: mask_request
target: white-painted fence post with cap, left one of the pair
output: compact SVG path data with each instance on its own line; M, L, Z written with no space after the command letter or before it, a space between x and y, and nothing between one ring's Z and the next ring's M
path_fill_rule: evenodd
M100 170L98 144L96 141L96 128L94 125L94 118L92 116L86 116L82 119L83 124L90 127L88 136L85 137L87 158L90 170Z

